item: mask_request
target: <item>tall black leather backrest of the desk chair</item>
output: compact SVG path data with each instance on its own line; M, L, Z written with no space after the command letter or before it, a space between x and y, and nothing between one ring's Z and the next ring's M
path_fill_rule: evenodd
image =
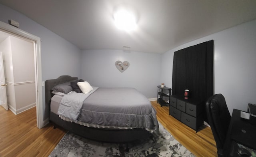
M218 157L223 157L222 151L231 116L222 94L212 95L206 101L206 113L216 142Z

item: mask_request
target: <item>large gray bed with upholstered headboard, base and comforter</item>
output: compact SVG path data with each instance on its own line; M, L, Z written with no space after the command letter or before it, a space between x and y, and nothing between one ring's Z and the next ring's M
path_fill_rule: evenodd
M143 139L158 132L155 109L144 95L133 88L93 87L82 102L77 118L62 116L60 108L66 106L60 105L60 101L64 96L52 93L52 89L77 81L77 77L71 76L45 81L49 121L54 125L88 139L118 143ZM73 93L78 94L72 91L67 95Z

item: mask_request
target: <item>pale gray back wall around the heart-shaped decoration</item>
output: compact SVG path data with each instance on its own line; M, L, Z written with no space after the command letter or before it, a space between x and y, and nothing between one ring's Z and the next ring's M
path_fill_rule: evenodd
M128 61L120 72L115 62ZM157 95L160 85L161 55L122 50L85 50L82 52L82 78L98 87L134 87L147 98Z

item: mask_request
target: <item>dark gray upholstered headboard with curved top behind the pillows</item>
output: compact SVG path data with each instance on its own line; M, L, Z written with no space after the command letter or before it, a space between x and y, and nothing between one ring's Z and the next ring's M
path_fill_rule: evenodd
M68 81L72 81L78 79L77 77L71 77L68 75L63 75L60 76L57 79L48 79L45 81L45 104L46 106L49 106L50 109L50 100L53 96L52 94L52 87L54 87L55 85L61 84L61 83L65 83ZM48 108L48 107L47 107Z

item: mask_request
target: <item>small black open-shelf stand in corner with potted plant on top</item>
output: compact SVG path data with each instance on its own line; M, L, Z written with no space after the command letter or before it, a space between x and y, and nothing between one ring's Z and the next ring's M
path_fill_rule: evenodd
M164 90L169 91L169 95L164 93ZM171 88L169 87L161 87L161 85L157 86L157 102L162 106L169 106L170 105L170 95L171 95ZM163 97L168 97L169 103L163 99Z

